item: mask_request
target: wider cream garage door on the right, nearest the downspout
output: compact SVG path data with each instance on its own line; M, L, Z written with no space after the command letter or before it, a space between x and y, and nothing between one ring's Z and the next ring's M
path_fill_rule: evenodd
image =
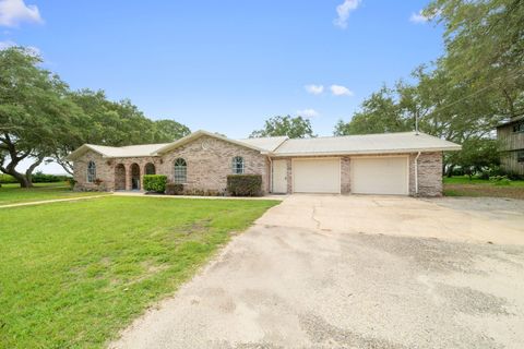
M352 193L408 194L407 157L352 158Z

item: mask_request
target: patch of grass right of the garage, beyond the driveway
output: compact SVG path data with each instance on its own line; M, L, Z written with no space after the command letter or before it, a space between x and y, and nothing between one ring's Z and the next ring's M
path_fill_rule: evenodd
M496 185L489 180L466 177L444 178L445 196L493 196L524 198L524 181L511 181L509 185Z

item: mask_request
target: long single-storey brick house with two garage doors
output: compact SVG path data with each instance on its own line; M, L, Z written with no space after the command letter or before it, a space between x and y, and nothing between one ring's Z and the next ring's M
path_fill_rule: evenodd
M68 157L81 190L141 190L143 174L186 189L224 191L230 173L262 176L264 193L438 196L442 152L461 146L424 133L231 140L196 131L167 144L84 144Z

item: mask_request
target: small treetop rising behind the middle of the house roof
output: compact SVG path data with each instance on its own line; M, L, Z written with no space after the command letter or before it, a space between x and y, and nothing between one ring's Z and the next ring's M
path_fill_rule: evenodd
M288 136L289 139L314 137L311 122L302 117L277 116L265 121L262 130L253 131L249 137Z

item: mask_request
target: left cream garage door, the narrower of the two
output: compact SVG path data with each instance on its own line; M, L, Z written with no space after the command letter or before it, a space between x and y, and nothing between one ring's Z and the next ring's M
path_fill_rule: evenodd
M296 193L340 193L341 160L294 159L293 191Z

